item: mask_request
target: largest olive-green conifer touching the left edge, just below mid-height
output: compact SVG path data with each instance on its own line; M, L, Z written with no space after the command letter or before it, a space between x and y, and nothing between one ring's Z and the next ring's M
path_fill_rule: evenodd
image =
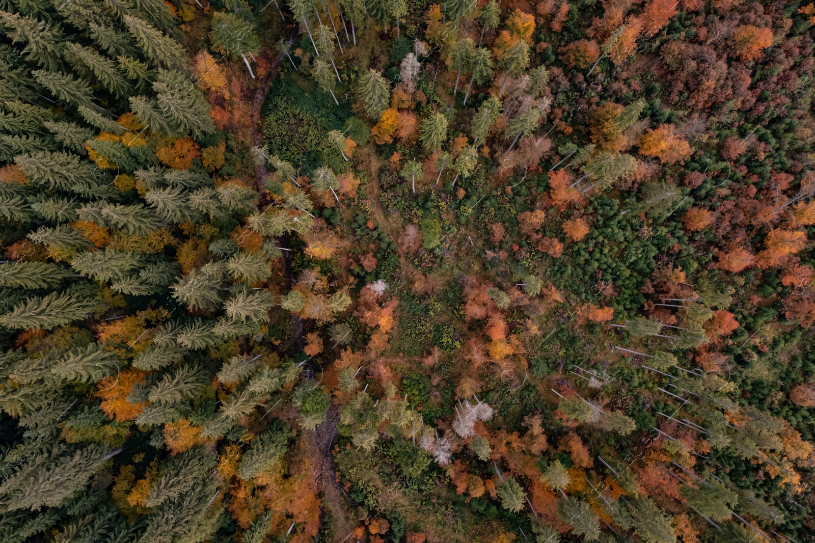
M96 306L97 302L93 299L83 299L67 292L52 292L16 304L14 309L0 316L0 324L11 329L50 330L86 318L87 313L94 311Z

